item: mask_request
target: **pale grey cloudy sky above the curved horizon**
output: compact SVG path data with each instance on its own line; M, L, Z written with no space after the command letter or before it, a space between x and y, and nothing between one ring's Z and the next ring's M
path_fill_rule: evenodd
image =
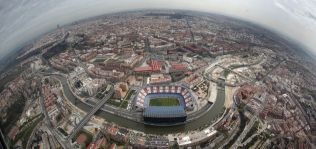
M0 59L57 24L142 8L197 10L251 21L300 42L316 57L316 0L0 0Z

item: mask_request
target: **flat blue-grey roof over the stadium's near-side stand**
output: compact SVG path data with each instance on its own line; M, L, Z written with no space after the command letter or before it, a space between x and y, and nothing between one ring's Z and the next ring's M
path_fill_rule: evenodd
M182 106L162 107L150 106L145 109L144 117L153 118L173 118L173 117L186 117L186 113Z

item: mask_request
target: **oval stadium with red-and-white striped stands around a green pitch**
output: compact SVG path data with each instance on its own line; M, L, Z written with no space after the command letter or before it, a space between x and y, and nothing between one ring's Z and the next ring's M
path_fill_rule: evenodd
M143 111L145 124L172 125L186 121L193 101L189 89L182 86L147 86L139 91L135 108Z

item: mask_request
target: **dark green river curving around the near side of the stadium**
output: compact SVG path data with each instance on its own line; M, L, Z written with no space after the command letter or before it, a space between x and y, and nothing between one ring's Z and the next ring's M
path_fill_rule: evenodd
M66 98L74 105L76 105L78 108L85 112L89 112L92 108L93 105L87 104L82 102L81 100L77 99L75 95L70 91L70 88L67 84L67 80L63 76L59 75L54 75L57 79L60 80L62 83L64 95ZM106 119L108 122L113 122L116 123L122 127L142 131L145 133L150 133L150 134L166 134L166 133L177 133L177 132L185 132L185 131L190 131L190 130L195 130L198 128L203 128L205 126L208 126L211 124L212 120L216 119L216 117L221 114L224 111L224 102L225 102L225 90L223 88L218 88L218 93L216 97L216 101L213 103L212 107L208 109L208 111L196 118L194 121L189 121L183 125L178 125L178 126L170 126L170 127L159 127L159 126L149 126L145 125L139 120L131 120L129 118L124 118L124 113L126 113L126 110L119 110L116 109L115 111L112 111L112 109L109 106L104 106L102 110L98 110L96 112L96 116L102 117ZM122 113L120 116L118 113ZM128 113L126 116L131 116L131 114L137 114L136 112L131 112ZM139 115L142 115L139 113ZM138 117L134 115L134 117Z

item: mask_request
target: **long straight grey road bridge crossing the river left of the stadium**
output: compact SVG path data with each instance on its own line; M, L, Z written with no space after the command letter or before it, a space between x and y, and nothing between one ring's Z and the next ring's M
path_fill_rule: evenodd
M86 125L86 123L91 119L91 117L101 108L103 107L103 105L105 104L105 102L107 100L109 100L112 95L114 94L114 90L110 90L109 93L102 99L100 100L94 107L93 109L79 122L79 124L72 130L72 132L69 134L68 136L68 140L72 139L79 130L81 130L81 128L83 126Z

